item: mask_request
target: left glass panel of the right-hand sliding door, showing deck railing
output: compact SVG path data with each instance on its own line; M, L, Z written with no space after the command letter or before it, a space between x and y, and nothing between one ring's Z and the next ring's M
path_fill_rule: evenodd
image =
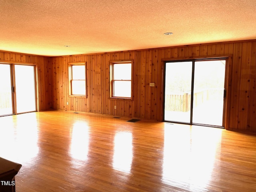
M192 62L165 64L164 120L190 123Z

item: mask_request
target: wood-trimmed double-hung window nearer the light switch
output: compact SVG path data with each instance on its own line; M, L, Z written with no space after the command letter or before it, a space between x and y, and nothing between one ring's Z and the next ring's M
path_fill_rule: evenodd
M111 98L132 98L132 61L110 62Z

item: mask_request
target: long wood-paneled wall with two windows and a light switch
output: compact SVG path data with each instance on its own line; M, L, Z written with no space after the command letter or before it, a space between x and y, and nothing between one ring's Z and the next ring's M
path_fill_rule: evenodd
M162 121L163 60L224 56L230 56L226 128L256 132L256 40L51 58L53 108ZM132 101L109 99L109 61L128 59ZM69 97L68 62L86 62L87 98Z

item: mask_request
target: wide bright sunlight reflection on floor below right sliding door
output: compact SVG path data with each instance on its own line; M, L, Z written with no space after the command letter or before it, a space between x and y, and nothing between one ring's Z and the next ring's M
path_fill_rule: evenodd
M208 184L222 132L220 129L213 129L212 132L204 129L195 126L193 129L174 129L171 124L166 124L163 182L174 186L178 184L177 187L182 187L180 184L184 183L191 190L198 186L204 188Z

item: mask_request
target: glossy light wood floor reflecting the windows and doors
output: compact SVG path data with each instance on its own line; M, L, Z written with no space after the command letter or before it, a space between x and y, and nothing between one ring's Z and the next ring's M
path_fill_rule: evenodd
M255 192L256 136L48 111L0 117L16 192Z

